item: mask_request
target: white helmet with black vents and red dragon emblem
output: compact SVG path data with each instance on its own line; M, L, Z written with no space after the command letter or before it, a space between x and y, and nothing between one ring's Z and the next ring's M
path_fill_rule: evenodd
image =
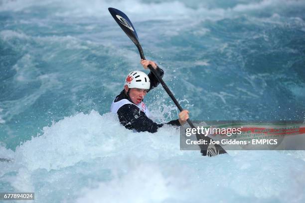
M149 90L151 88L151 81L146 73L142 71L133 71L126 77L124 86L125 85L127 85L128 88Z

